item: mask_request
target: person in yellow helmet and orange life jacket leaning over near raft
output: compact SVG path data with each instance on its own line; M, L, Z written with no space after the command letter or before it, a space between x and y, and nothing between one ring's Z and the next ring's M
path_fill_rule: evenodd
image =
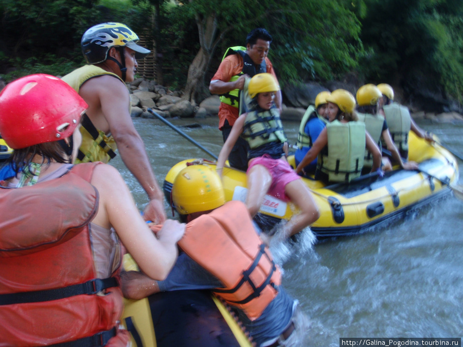
M124 296L142 299L159 291L211 290L236 313L256 346L298 345L307 329L306 317L281 286L280 269L244 204L225 202L215 170L191 165L180 171L172 186L172 205L187 223L179 242L183 252L164 281L138 271L122 272Z

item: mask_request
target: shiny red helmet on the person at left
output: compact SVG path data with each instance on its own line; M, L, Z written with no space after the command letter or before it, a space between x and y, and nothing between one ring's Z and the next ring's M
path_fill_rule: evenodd
M0 135L13 149L58 141L73 134L88 105L61 79L29 75L0 93Z

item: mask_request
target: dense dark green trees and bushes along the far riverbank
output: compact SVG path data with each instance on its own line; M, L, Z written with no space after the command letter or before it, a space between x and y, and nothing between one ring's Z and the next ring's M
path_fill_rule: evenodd
M82 33L118 21L147 29L164 84L201 101L226 47L273 35L280 82L343 80L418 86L460 102L463 0L0 0L0 74L64 75L83 63Z

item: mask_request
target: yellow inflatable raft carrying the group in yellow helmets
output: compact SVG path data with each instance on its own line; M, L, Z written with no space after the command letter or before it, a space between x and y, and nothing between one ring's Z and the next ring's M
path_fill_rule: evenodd
M451 185L458 179L458 165L452 154L413 132L409 133L408 144L409 160L418 162L420 170L396 168L384 177L372 173L350 184L325 185L303 178L320 210L320 218L311 227L317 238L358 233L451 192ZM183 160L168 172L163 185L168 201L175 176L193 160L198 159ZM294 166L293 157L289 162ZM213 162L205 161L205 164L215 166ZM223 183L227 200L244 201L247 192L244 172L224 168ZM266 195L256 217L260 215L258 219L272 227L280 220L289 220L296 211L291 203Z

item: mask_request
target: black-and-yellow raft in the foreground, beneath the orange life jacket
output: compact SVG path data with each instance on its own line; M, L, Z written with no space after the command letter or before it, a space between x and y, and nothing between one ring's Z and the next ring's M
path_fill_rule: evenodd
M138 271L130 254L126 271ZM243 328L208 290L175 290L124 299L122 323L137 347L251 347Z

